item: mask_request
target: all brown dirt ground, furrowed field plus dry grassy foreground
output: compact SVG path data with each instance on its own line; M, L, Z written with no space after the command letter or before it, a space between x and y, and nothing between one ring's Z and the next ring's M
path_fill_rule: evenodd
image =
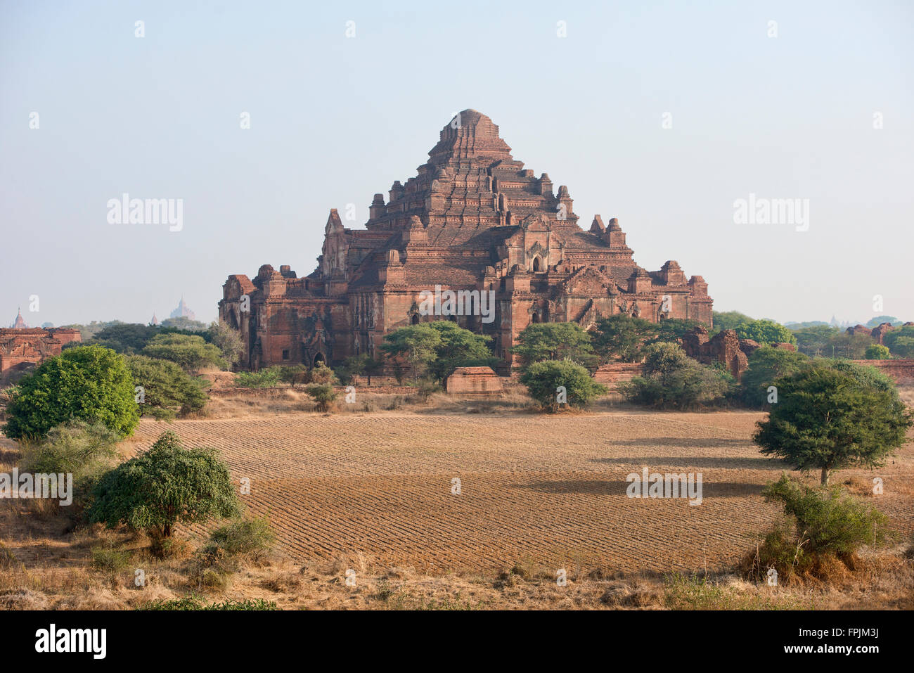
M779 513L760 490L786 466L749 439L761 413L544 415L446 401L216 415L229 417L143 420L122 444L129 455L174 430L188 446L216 447L239 483L250 479L241 499L249 514L270 519L275 550L207 587L213 600L265 598L292 609L914 607L904 544L914 530L912 443L876 472L834 477L887 513L901 543L866 552L842 587L771 590L733 574ZM0 440L0 470L17 456L16 443ZM626 475L644 466L701 473L701 504L626 497ZM874 476L883 479L880 496ZM152 558L142 536L74 531L20 505L0 503L0 556L12 561L0 569L0 608L123 608L199 588L174 561ZM194 546L206 532L181 534ZM99 544L126 550L130 567L92 570ZM148 572L143 590L133 586L133 566ZM356 572L355 586L345 584L346 570Z

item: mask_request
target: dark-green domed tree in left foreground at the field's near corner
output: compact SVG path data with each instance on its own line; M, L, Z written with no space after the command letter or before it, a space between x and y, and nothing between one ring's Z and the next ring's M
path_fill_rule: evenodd
M126 524L169 538L176 523L238 517L235 491L228 465L214 449L186 449L168 431L148 451L101 477L87 518L110 529Z

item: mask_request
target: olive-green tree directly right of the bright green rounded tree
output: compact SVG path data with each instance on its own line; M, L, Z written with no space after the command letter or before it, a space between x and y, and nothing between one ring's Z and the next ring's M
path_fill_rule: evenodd
M143 355L126 356L133 383L143 386L140 415L157 421L200 411L207 405L207 381L189 376L174 362Z

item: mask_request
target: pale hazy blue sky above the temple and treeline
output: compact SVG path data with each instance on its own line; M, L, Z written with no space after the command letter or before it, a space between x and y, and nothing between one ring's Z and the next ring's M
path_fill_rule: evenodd
M914 320L912 75L909 2L2 2L0 325L213 319L229 273L313 271L329 209L361 228L465 108L717 310ZM109 224L123 192L183 230ZM735 224L749 193L809 230Z

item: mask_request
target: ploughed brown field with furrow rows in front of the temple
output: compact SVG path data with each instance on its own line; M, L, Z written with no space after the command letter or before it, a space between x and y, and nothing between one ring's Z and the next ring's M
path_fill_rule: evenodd
M437 575L491 574L518 562L602 572L725 572L780 507L762 487L789 468L751 443L762 413L486 416L314 413L143 421L134 444L174 430L213 446L250 514L267 516L295 563L366 559ZM702 475L702 501L630 498L626 475ZM872 479L884 492L871 493ZM905 538L914 529L914 450L877 472L835 475ZM456 491L459 479L459 493ZM811 476L810 483L815 479ZM204 529L193 529L202 534Z

